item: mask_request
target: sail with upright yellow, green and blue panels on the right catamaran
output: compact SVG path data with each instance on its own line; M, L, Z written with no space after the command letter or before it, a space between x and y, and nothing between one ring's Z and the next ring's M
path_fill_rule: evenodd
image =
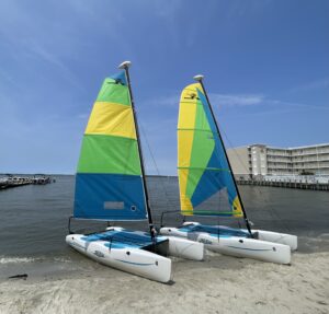
M201 83L188 85L181 94L178 124L182 214L242 217L224 150Z

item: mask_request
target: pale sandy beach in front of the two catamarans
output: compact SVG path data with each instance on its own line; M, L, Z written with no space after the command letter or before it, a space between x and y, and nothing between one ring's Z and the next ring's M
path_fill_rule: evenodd
M174 283L118 270L0 281L0 313L329 313L329 253L283 266L209 254L175 259Z

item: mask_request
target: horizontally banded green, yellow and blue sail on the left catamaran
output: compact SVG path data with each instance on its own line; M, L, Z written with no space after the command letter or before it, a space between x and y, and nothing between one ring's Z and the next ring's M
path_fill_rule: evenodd
M83 135L76 218L147 219L136 126L125 71L106 78Z

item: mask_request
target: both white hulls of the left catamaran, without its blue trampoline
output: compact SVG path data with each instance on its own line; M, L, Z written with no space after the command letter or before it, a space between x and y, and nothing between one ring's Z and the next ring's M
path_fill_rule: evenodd
M113 228L122 231L121 228ZM161 236L161 240L166 237ZM86 241L84 234L69 234L66 243L81 254L106 266L131 272L150 280L169 282L171 280L171 259L159 254L133 247L123 243L123 247L109 247L109 241ZM121 243L116 243L121 245ZM194 260L204 259L204 245L181 237L168 237L156 251L162 255L172 255Z

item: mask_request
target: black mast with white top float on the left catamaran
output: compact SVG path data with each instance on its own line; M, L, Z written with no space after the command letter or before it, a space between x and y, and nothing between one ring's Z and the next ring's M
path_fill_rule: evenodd
M133 97L132 85L131 85L131 77L129 77L129 67L131 67L131 65L132 65L131 61L124 61L118 66L118 69L125 70L125 72L126 72L128 90L129 90L129 96L131 96L131 102L132 102L132 109L133 109L133 115L134 115L134 120L135 120L137 147L138 147L139 156L140 156L139 161L140 161L140 168L141 168L141 178L143 178L144 195L145 195L145 200L146 200L146 209L147 209L149 232L150 232L150 235L151 235L152 240L155 241L156 230L155 230L155 226L154 226L152 216L151 216L150 206L149 206L149 198L148 198L147 185L146 185L146 179L145 179L145 167L144 167L143 151L141 151L140 140L139 140L138 121L137 121L137 115L136 115L136 111L135 111L134 97Z

